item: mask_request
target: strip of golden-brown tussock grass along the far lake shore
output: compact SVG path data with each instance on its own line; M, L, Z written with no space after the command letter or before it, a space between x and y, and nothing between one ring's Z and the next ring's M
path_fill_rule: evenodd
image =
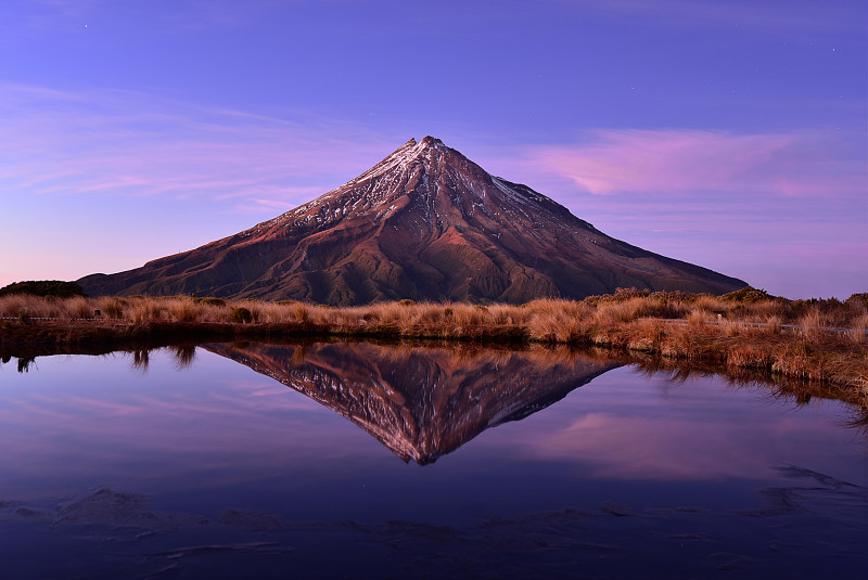
M868 307L861 299L800 302L753 292L732 298L620 291L522 306L401 300L352 308L186 296L13 295L0 298L0 315L12 318L0 322L0 351L330 336L561 344L838 385L860 394L868 405Z

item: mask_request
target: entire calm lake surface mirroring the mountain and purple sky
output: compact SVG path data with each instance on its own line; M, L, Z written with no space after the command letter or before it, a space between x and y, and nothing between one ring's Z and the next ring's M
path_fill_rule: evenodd
M569 350L12 359L2 576L857 578L853 420Z

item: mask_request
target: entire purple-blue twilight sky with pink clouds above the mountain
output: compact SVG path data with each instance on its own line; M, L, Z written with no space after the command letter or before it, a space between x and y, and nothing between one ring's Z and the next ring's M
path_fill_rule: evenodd
M863 1L4 0L0 285L230 235L433 134L603 232L868 292Z

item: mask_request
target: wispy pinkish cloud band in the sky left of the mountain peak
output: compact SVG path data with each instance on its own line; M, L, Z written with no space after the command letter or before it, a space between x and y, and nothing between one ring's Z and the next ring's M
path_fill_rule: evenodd
M404 139L310 113L0 86L0 180L25 194L199 196L272 211L350 179Z

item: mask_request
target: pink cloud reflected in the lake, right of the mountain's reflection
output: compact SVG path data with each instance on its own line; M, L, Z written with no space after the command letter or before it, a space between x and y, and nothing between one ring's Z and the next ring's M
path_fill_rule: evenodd
M663 375L647 382L633 373L607 373L528 424L498 427L499 449L582 465L591 478L707 481L771 476L790 446L803 450L803 461L822 465L840 437L840 427L816 408L757 400L768 397L765 387L731 392L723 379L676 386Z

